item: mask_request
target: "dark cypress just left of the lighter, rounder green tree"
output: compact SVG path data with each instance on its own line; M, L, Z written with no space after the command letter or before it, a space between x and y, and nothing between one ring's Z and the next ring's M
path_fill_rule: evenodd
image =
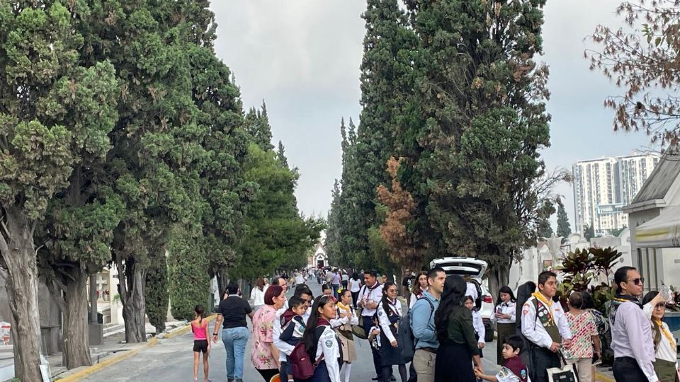
M212 25L214 15L204 17ZM211 29L209 25L206 28ZM217 277L223 291L227 270L235 264L235 248L244 233L245 208L256 195L258 185L244 178L249 135L244 129L239 88L230 79L231 71L206 42L192 46L189 57L198 123L206 131L203 148L207 154L200 169L201 246L208 248L205 255L210 277Z

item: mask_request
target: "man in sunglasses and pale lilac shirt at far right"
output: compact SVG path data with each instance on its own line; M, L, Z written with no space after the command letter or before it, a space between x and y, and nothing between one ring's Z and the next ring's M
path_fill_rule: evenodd
M608 307L611 322L612 371L618 382L656 382L656 361L650 319L640 306L644 279L633 267L621 267L614 273L617 291Z

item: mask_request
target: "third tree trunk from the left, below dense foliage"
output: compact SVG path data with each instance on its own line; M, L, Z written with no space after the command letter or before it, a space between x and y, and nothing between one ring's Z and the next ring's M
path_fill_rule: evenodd
M119 268L120 270L120 268ZM125 342L144 342L147 340L146 313L144 300L145 274L132 259L126 260L125 272L119 272L125 321ZM123 297L125 296L125 297Z

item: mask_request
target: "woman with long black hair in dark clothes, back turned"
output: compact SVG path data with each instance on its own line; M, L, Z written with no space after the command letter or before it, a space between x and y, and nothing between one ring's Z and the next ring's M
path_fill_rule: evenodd
M472 329L472 311L465 308L465 280L456 274L444 284L434 326L439 340L435 361L435 382L475 382L475 369L483 372L480 349ZM451 372L455 370L455 372Z

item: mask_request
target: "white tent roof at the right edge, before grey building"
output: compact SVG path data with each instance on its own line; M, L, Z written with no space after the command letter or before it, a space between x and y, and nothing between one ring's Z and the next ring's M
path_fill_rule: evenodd
M640 248L680 247L680 206L668 207L635 228L635 242Z

